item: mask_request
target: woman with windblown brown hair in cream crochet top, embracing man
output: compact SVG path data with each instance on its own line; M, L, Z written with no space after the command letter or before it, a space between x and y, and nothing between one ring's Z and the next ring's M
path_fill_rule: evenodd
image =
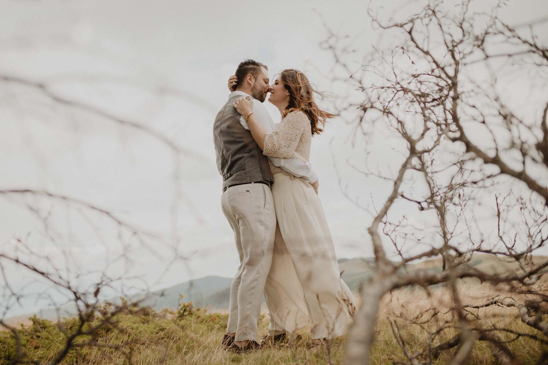
M236 80L236 76L229 79L229 88ZM250 98L242 96L234 106L246 118L265 155L308 161L312 135L322 132L326 120L335 115L318 108L312 95L315 90L305 74L296 69L283 70L269 91L269 101L282 116L271 133L266 133L255 119ZM275 334L276 321L286 321L281 327L288 328L299 319L295 313L300 312L299 302L304 296L312 320L310 348L317 349L326 339L345 333L355 312L354 298L340 279L333 239L315 188L304 178L272 164L270 168L276 218L285 247L277 246L265 287L271 318L269 335ZM294 304L281 303L278 299L282 292L284 297L289 296L286 303ZM293 323L293 327L298 326Z

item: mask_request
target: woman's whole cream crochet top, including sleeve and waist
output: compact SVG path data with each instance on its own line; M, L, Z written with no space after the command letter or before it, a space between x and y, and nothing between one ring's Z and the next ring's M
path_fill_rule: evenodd
M310 146L312 141L312 130L310 120L305 113L301 111L290 112L276 124L273 132L265 135L265 144L263 154L272 157L296 158L301 161L309 161ZM291 173L282 170L280 167L272 165L269 160L270 171L275 173L284 173L289 175L292 180L297 177ZM309 184L306 178L298 178L305 184Z

